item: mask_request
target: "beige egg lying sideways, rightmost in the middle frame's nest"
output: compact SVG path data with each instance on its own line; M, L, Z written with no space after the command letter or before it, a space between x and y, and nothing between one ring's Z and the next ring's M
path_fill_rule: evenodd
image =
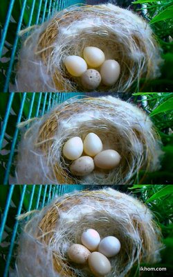
M120 159L120 154L115 150L104 150L98 153L93 161L98 168L112 169L118 166Z

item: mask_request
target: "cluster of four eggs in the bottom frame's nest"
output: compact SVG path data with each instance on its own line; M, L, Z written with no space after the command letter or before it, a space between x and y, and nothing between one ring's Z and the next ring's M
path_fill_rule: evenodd
M115 256L120 251L118 238L108 236L101 240L97 231L87 229L82 233L81 242L82 244L73 244L69 247L67 251L69 259L80 265L88 260L89 268L95 276L109 274L111 263L108 258Z

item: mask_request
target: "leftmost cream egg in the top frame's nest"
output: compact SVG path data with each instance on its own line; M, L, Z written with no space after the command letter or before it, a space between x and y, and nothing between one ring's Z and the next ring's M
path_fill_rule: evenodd
M67 71L75 77L81 76L87 69L87 64L82 57L71 55L64 60Z

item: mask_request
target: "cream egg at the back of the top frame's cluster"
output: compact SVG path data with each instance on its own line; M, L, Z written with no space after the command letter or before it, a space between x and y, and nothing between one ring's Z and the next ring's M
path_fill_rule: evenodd
M93 68L100 66L105 60L103 51L98 47L85 47L83 55L87 64Z

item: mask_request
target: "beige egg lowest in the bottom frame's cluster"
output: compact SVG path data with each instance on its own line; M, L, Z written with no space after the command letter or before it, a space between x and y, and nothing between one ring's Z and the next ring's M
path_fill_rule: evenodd
M89 255L89 268L95 276L105 276L111 271L111 263L102 253L93 252Z

